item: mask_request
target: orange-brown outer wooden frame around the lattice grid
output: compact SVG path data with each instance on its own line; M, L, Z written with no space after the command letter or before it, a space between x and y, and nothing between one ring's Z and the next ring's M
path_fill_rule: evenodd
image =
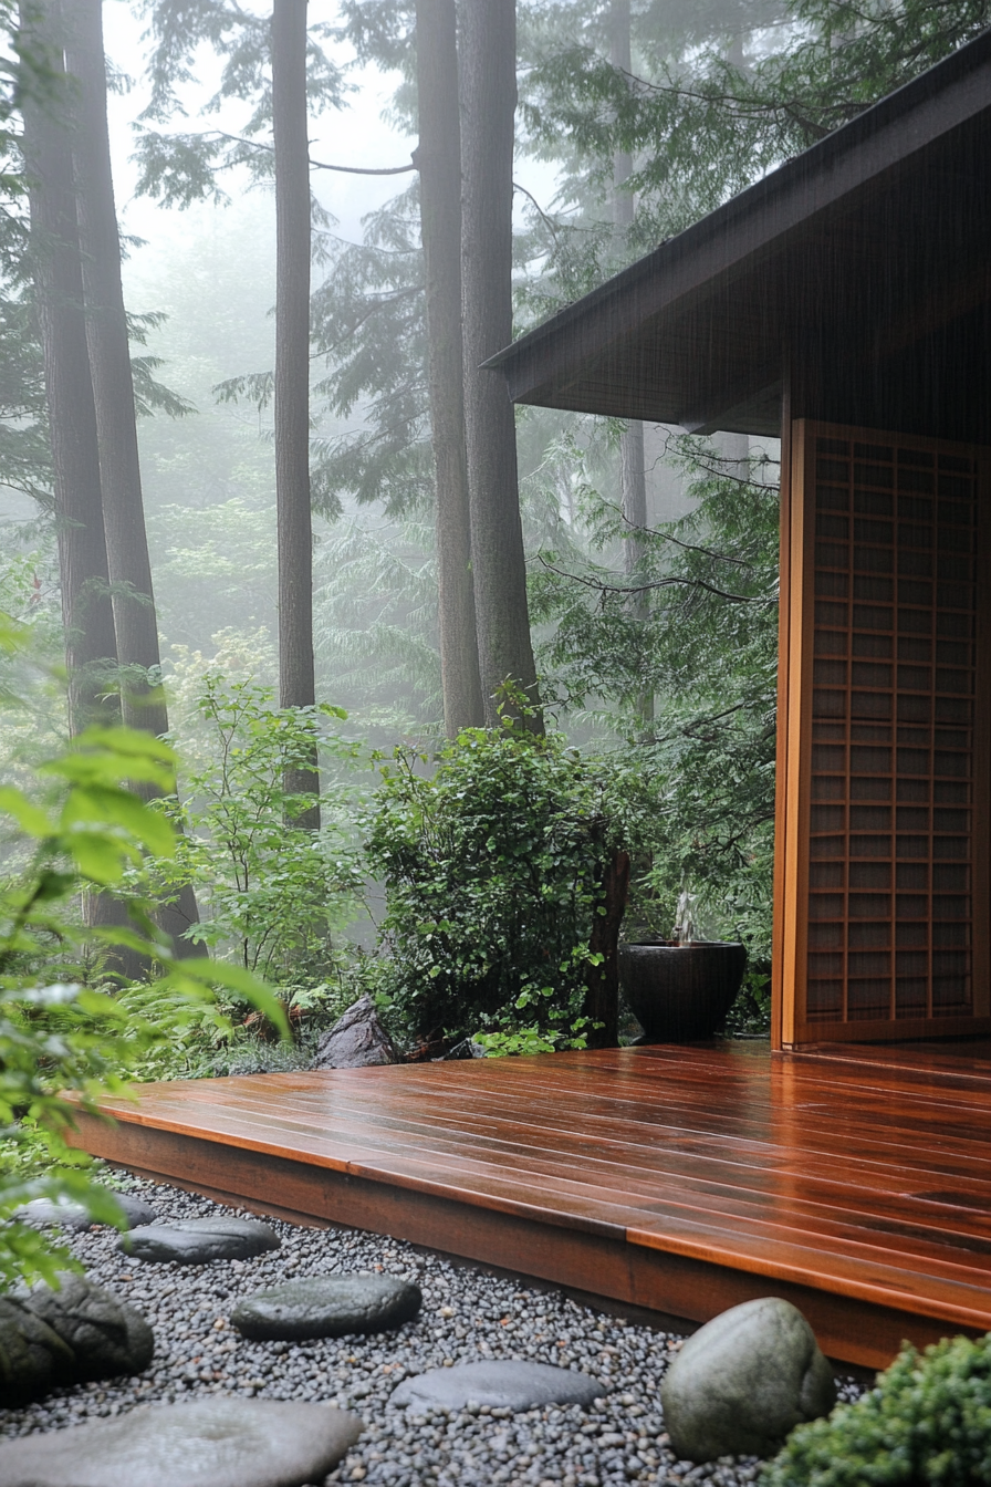
M902 448L966 454L978 461L978 657L973 720L973 1014L828 1023L805 1020L811 781L811 666L814 642L814 485L805 479L814 436L886 439ZM817 1041L908 1041L991 1032L991 451L888 430L857 428L817 419L792 419L787 394L782 421L782 546L777 683L777 778L774 831L774 929L771 961L771 1047ZM897 1032L894 1032L897 1028Z

